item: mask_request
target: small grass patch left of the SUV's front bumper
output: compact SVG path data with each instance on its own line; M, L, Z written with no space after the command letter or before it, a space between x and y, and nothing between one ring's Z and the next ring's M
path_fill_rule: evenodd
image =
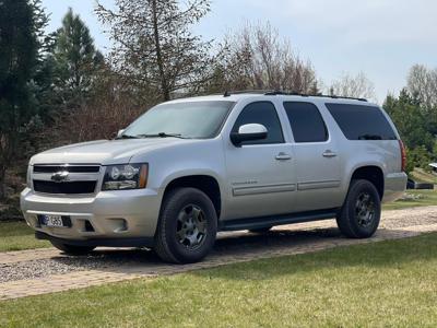
M35 239L34 231L24 222L0 222L0 251L49 247L50 243Z

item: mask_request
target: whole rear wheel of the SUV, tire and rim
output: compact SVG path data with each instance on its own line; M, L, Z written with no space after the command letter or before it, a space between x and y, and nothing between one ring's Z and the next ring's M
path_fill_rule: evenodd
M368 180L352 180L346 200L336 216L343 235L350 238L369 238L378 229L381 200L378 190Z

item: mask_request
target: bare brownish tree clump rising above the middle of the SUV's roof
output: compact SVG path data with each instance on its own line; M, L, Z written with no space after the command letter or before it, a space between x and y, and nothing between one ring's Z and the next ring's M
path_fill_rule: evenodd
M269 23L246 25L240 32L227 35L218 57L213 90L318 92L311 63L302 60L291 42L281 39Z

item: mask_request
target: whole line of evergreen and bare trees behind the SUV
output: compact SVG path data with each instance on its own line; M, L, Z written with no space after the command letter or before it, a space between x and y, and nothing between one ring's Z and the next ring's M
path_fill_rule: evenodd
M71 9L48 34L40 0L0 0L0 198L22 188L10 180L25 176L32 154L111 138L170 98L226 90L375 96L363 73L323 86L312 63L269 23L246 24L218 40L193 34L210 10L209 0L116 0L114 8L97 2L95 14L111 42L104 56ZM417 163L436 149L436 77L414 67L405 90L385 102Z

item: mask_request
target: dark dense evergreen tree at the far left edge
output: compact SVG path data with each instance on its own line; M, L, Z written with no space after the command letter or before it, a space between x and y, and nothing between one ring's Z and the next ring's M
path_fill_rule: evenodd
M35 109L32 81L38 57L38 27L27 0L0 1L0 198L5 172L20 149Z

